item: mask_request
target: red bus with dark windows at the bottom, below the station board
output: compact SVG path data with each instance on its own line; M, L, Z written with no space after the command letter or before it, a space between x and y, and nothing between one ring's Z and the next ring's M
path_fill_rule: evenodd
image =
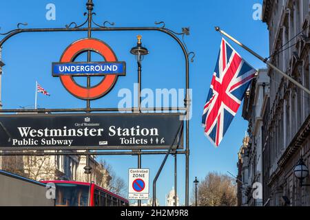
M63 180L41 182L55 184L55 206L129 206L127 199L93 183Z

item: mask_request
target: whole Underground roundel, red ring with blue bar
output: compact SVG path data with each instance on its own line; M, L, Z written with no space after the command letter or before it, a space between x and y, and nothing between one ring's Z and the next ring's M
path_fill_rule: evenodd
M74 62L83 52L96 52L104 62ZM125 76L125 62L118 62L113 50L98 39L81 39L63 52L59 63L52 63L52 75L61 79L63 87L76 98L94 100L101 98L114 87L118 76ZM78 85L73 76L104 76L94 87Z

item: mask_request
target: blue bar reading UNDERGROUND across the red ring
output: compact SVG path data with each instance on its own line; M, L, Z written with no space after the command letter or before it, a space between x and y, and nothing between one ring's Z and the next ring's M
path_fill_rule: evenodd
M52 75L104 76L107 74L116 74L125 76L125 68L125 62L52 63Z

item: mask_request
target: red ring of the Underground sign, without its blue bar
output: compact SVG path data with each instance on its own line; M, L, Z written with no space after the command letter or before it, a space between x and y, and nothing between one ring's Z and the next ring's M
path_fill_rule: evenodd
M81 39L79 41L75 41L67 47L67 49L65 49L61 55L60 62L73 62L76 56L88 50L97 52L103 56L107 62L117 61L113 50L103 41L98 39ZM65 89L67 89L70 94L76 98L83 100L94 100L107 94L115 85L117 77L117 75L112 74L106 75L98 85L87 88L76 84L72 76L60 76L63 87L65 87Z

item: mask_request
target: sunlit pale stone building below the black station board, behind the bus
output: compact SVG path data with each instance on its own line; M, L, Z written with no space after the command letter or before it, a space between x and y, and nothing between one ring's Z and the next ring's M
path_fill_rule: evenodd
M92 173L84 173L85 155L45 155L45 156L6 156L0 157L0 169L23 175L34 180L72 180L94 182L98 186L110 188L112 177L95 157L90 157Z

